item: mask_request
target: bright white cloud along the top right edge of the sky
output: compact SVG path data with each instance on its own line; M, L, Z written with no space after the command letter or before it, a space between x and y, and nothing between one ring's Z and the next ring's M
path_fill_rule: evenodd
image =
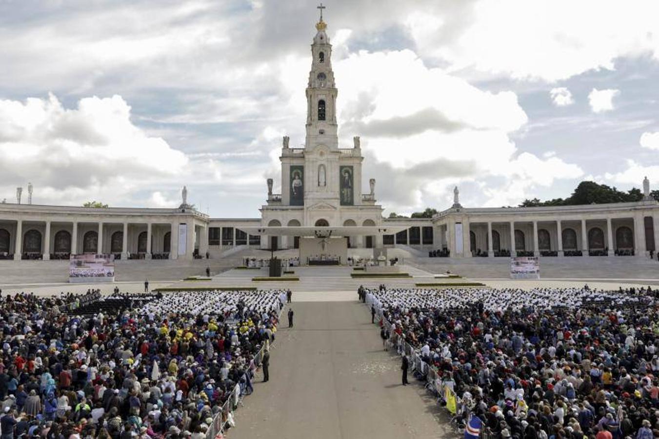
M659 3L652 0L481 0L446 41L449 13L420 9L409 29L421 53L455 70L556 81L614 69L620 56L659 57Z

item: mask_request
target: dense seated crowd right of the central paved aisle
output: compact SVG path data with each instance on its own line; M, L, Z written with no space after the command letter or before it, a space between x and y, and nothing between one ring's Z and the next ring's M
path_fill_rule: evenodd
M360 288L383 339L409 343L455 392L458 421L523 439L659 436L657 293Z

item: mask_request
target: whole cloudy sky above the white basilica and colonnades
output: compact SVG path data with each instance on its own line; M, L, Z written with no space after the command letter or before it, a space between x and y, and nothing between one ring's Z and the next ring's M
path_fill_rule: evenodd
M388 212L659 184L659 3L326 0L339 144ZM316 3L0 2L0 199L258 218Z

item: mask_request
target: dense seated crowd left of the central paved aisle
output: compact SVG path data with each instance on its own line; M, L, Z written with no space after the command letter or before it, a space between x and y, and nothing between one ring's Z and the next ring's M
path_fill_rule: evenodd
M76 314L97 294L0 292L0 438L206 438L218 413L231 423L225 401L252 392L286 301L184 291Z

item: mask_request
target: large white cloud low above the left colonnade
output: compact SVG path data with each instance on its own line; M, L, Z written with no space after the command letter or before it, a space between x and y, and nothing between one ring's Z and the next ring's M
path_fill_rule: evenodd
M162 206L163 189L173 197L185 183L220 178L217 161L190 160L133 125L128 103L117 95L84 98L71 109L53 94L0 100L0 156L0 191L13 194L30 181L42 203L102 199L124 206L141 197Z

